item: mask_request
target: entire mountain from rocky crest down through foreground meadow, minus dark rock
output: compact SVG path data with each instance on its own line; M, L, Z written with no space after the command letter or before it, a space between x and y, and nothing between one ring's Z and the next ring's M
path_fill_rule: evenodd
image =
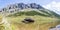
M60 24L60 15L36 3L9 5L1 12L4 14L1 30L49 30ZM23 23L25 18L33 19L34 23Z

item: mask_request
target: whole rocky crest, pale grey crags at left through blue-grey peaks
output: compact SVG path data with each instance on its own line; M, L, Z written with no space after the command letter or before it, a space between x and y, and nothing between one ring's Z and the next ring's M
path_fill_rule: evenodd
M23 9L44 9L42 6L40 6L39 4L36 3L30 3L30 4L24 4L24 3L17 3L17 4L13 4L13 5L9 5L5 8L2 9L2 12L6 12L6 13L14 13L14 12L18 12L21 11Z

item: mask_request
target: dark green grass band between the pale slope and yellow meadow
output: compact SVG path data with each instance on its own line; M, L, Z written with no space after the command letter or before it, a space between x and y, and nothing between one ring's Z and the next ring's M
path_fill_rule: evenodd
M28 12L17 12L15 14L12 14L12 15L8 15L8 16L21 16L21 15L26 15L26 16L34 16L34 15L40 15L40 16L47 16L49 17L49 15L46 15L46 14L43 14L43 13L39 13L39 12L36 12L36 11L28 11Z

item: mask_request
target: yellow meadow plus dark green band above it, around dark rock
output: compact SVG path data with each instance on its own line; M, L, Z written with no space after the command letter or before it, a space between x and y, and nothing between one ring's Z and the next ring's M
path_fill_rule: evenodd
M26 17L31 17L35 22L32 24L22 23L21 21ZM15 30L48 30L50 27L55 27L60 24L60 20L54 16L51 17L37 12L32 13L32 11L9 15L7 19L15 27L13 27Z

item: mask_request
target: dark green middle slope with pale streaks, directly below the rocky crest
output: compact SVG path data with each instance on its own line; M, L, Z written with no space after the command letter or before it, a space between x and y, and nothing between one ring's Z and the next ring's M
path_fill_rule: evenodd
M24 11L20 11L20 12L14 13L12 15L13 16L21 16L21 15L34 16L34 15L39 15L39 16L60 18L60 15L56 14L53 11L47 10L47 9L43 9L43 10L25 9ZM9 16L11 16L11 15L9 15Z

